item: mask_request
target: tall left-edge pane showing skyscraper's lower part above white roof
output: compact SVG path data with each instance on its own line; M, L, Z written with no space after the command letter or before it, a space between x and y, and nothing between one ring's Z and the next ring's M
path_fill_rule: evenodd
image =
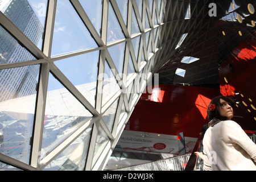
M0 152L27 163L40 65L0 70Z

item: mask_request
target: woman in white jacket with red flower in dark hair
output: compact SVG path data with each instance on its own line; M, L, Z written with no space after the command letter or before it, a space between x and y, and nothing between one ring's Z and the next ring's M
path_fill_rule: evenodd
M209 128L203 139L204 170L256 170L256 144L230 120L233 101L224 96L213 98L208 106Z

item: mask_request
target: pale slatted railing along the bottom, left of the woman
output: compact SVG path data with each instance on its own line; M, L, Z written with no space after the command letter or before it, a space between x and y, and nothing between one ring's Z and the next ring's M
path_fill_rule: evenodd
M119 168L114 171L184 171L190 156L191 153L136 166Z

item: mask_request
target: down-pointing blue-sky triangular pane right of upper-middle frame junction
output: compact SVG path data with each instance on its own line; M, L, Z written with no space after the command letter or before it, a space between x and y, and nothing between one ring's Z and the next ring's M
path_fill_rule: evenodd
M112 60L115 64L115 68L119 73L119 76L122 78L123 73L123 61L125 59L125 47L126 43L119 43L116 46L108 48L109 54L112 57Z

